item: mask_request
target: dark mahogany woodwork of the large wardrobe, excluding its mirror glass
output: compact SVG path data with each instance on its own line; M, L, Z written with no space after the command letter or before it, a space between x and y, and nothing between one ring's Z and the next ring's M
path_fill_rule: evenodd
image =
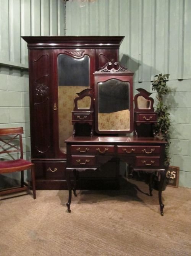
M22 38L27 42L29 49L31 156L32 162L37 167L36 186L37 189L50 190L67 188L66 154L59 147L58 56L65 54L76 59L79 58L78 53L81 57L89 56L89 87L92 88L94 95L94 71L99 70L108 61L118 61L118 51L124 36L22 36ZM52 162L51 159L58 160ZM63 173L59 171L60 175L58 175L60 165ZM57 171L51 172L49 167L51 170L57 168ZM112 183L118 182L116 175L114 176ZM100 179L102 177L99 178L97 172L97 180Z

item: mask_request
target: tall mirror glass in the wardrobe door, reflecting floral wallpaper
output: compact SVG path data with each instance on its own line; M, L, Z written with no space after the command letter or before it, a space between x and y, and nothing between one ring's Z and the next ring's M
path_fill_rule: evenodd
M71 111L74 108L74 99L78 92L89 88L90 84L90 58L58 55L58 126L59 146L65 152L65 140L73 134ZM86 100L86 103L89 101ZM86 103L79 104L80 107L88 107Z

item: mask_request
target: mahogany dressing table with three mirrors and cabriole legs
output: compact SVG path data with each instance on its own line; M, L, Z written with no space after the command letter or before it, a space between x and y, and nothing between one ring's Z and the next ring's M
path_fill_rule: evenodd
M149 97L149 92L138 89L139 94L134 97L133 107L133 72L118 62L108 62L93 74L94 94L91 90L82 91L79 94L82 96L75 99L72 112L75 128L73 136L65 140L68 212L71 212L72 190L76 196L78 173L86 170L96 172L106 162L120 159L134 171L160 173L159 205L163 215L162 185L166 176L166 142L156 138L153 133L153 125L157 120L157 113L153 108L154 100ZM83 104L78 104L78 100L82 99ZM78 120L74 120L76 113ZM79 119L81 125L90 126L89 134L87 132L84 136L76 130ZM132 132L134 136L128 136ZM74 174L73 187L71 173ZM149 192L152 196L151 184Z

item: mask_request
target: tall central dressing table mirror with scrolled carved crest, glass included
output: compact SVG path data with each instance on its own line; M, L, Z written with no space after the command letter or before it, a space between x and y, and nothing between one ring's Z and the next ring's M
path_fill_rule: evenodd
M133 131L133 72L115 62L107 63L95 78L95 131L125 134Z

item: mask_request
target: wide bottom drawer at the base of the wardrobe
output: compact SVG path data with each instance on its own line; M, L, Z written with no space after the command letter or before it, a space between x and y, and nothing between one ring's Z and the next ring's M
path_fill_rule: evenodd
M64 178L66 162L34 162L36 178Z

